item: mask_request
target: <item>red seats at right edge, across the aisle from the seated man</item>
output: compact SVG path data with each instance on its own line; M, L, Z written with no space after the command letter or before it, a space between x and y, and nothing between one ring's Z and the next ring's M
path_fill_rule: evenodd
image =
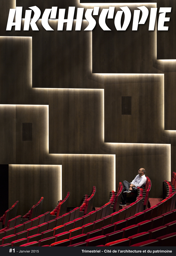
M173 172L170 182L168 182L167 180L163 181L163 199L168 197L175 190L176 190L176 173Z

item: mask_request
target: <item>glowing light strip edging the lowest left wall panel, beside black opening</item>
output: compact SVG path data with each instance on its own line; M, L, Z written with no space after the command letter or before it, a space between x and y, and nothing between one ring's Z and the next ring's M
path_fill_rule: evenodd
M60 184L58 184L58 200L62 200L62 165L54 165L54 164L9 164L9 166L27 166L27 167L38 167L38 166L42 166L42 167L46 167L48 168L48 166L53 166L53 167L58 167L58 181ZM60 168L59 168L60 167Z

